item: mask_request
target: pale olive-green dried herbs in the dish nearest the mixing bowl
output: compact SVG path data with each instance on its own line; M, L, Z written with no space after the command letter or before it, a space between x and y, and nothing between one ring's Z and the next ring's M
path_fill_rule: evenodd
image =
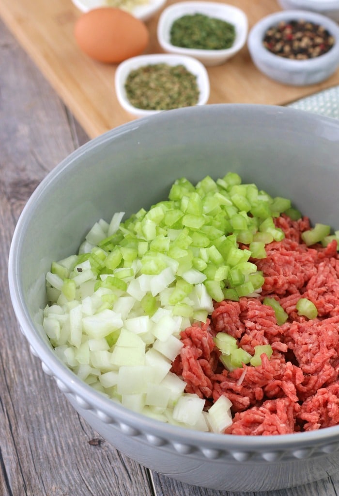
M199 98L196 76L182 64L156 63L132 70L125 90L130 103L145 110L190 107Z

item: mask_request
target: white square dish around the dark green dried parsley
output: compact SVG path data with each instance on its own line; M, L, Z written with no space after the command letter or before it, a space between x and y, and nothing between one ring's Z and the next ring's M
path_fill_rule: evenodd
M222 19L233 24L236 28L236 39L231 48L225 50L194 50L172 45L170 42L171 27L176 19L183 15L196 13ZM238 7L227 3L209 1L184 1L166 7L160 14L157 37L161 48L168 53L189 55L204 65L220 65L236 55L246 43L248 21L246 14Z

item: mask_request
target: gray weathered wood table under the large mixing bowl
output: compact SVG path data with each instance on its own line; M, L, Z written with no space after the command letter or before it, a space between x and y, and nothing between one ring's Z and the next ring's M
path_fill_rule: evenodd
M119 453L71 408L20 333L7 283L16 221L39 182L87 140L0 22L0 495L253 495L181 484ZM298 488L256 494L335 496L339 474Z

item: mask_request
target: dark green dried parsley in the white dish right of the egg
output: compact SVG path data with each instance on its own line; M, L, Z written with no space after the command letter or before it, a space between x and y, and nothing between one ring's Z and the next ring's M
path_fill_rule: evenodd
M235 38L233 24L200 13L183 15L170 30L171 44L182 48L225 50L232 47Z

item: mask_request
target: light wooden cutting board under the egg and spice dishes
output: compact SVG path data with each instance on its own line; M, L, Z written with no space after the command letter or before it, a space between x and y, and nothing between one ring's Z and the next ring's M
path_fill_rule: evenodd
M166 5L175 0L167 0ZM249 29L263 16L281 10L276 0L228 0L242 8ZM165 5L165 6L166 6ZM74 23L81 12L71 0L1 0L0 16L22 47L45 74L91 138L135 117L119 105L114 91L115 65L84 55L74 40ZM162 52L156 39L159 14L147 22L147 53ZM207 68L211 94L208 103L284 105L339 84L339 70L327 81L304 87L276 83L251 62L247 47L223 65Z

